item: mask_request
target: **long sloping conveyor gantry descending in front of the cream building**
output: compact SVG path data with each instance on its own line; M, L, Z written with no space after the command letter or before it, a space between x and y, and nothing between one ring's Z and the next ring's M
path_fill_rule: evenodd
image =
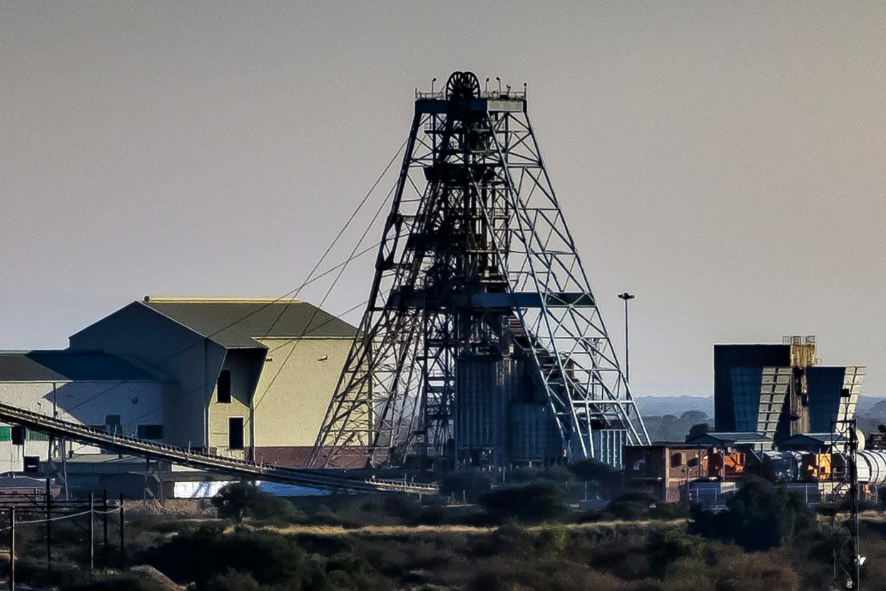
M71 439L86 445L110 449L124 455L136 455L152 460L167 460L182 466L229 474L237 478L265 480L285 485L310 486L323 490L352 493L407 493L439 494L436 485L405 480L350 478L330 474L327 470L299 470L279 468L260 463L237 460L222 455L210 455L184 447L167 446L147 439L116 435L84 424L62 421L30 410L0 404L0 420L19 424L36 432Z

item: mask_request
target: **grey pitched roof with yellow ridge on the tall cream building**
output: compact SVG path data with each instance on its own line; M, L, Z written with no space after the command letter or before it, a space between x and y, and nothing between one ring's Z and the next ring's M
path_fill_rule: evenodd
M144 306L227 348L253 348L255 338L354 338L357 329L313 304L290 299L156 299Z

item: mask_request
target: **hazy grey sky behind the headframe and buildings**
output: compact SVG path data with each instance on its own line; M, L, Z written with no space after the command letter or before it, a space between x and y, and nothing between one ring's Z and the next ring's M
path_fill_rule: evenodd
M6 0L0 347L66 346L145 293L288 292L414 89L458 69L528 83L619 350L637 295L635 393L710 393L715 342L815 334L886 394L881 2ZM358 262L330 312L365 297Z

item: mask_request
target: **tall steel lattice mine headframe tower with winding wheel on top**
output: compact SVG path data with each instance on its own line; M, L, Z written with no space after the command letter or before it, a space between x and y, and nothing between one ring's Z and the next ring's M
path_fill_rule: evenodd
M520 381L501 370L517 358L553 417L561 457L598 456L595 431L649 442L541 159L525 87L483 90L475 74L455 72L444 89L416 91L369 305L311 465L418 457L454 466L470 430L465 407L485 387L459 368L499 363L491 375L501 389ZM502 408L483 429L505 429Z

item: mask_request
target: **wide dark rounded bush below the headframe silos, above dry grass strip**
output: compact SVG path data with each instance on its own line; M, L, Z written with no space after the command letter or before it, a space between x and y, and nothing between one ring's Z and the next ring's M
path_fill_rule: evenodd
M480 497L480 505L494 518L544 521L563 514L563 490L548 482L502 486Z

